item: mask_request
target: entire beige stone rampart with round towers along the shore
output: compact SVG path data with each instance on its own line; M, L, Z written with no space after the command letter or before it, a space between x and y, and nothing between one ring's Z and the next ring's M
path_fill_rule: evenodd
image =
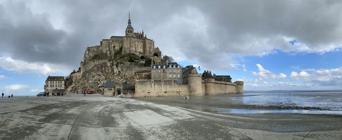
M243 93L243 81L226 82L200 79L192 75L189 84L177 84L174 80L136 80L134 97L156 96L204 96L215 94Z

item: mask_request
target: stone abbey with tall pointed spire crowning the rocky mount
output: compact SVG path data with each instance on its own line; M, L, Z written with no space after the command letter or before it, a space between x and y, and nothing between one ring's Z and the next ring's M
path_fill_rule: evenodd
M159 48L154 48L154 41L146 37L144 30L142 32L134 32L131 25L130 14L128 14L128 25L125 31L125 36L111 36L110 39L100 41L100 45L87 47L84 55L84 63L87 63L92 56L98 51L104 52L109 58L115 53L136 54L137 56L152 57L157 53L161 57Z

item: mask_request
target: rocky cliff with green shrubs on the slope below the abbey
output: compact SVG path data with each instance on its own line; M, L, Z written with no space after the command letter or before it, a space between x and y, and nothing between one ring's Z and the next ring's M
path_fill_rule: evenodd
M128 70L129 69L129 70ZM65 93L81 93L82 91L93 90L101 93L106 81L114 81L115 84L130 83L141 79L139 71L149 70L150 67L138 66L137 63L118 64L114 60L92 61L84 66L84 72L70 75L72 83ZM72 76L78 76L72 78Z

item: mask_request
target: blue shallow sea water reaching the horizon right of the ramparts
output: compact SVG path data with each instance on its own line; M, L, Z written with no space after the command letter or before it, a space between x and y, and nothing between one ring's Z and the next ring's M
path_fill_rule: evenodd
M310 106L342 111L342 91L245 91L233 102L248 105Z

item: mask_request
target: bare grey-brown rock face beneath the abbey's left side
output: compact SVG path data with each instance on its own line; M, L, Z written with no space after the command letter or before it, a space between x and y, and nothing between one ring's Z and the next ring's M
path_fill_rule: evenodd
M74 80L65 92L72 94L93 90L94 93L102 93L102 89L107 80L114 81L115 84L134 84L135 80L141 79L139 74L127 75L127 72L120 71L118 69L120 66L115 61L104 61L95 64L83 72L80 78Z

